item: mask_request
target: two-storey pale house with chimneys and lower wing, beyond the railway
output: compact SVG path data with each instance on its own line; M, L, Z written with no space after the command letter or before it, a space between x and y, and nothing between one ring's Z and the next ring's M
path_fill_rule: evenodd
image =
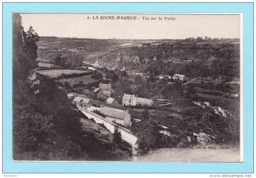
M131 95L124 93L122 98L123 106L135 106L135 105L149 105L152 106L154 104L153 99L140 98L137 95Z

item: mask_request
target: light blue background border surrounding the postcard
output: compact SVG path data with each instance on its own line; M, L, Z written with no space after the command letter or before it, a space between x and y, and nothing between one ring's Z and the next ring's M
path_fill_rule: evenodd
M12 12L18 13L244 13L244 162L12 162ZM218 22L216 22L218 25ZM252 173L253 3L3 3L3 173Z

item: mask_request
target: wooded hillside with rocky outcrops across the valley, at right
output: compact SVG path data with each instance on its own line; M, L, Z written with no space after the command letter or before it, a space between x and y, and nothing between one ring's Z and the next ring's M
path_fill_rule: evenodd
M240 75L239 44L163 43L133 46L109 53L98 60L99 65L162 75L185 74L188 77Z

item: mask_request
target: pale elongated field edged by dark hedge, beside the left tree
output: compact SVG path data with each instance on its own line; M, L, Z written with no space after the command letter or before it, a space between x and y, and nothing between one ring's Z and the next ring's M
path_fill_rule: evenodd
M53 77L58 77L61 74L80 74L80 73L84 73L85 71L83 70L68 70L68 69L53 69L53 70L39 70L37 71L39 74L42 75L48 75L50 78Z

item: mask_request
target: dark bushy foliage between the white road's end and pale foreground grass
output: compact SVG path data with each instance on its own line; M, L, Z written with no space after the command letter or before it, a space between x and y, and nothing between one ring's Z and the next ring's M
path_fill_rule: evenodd
M134 121L131 130L137 136L136 142L138 153L143 155L150 150L159 148L171 148L176 146L194 146L197 140L193 133L187 131L184 127L172 127L167 130L169 134L161 133L163 128L152 118L148 117L147 110L144 110L141 122ZM180 124L180 122L177 122ZM181 125L181 124L180 124Z

